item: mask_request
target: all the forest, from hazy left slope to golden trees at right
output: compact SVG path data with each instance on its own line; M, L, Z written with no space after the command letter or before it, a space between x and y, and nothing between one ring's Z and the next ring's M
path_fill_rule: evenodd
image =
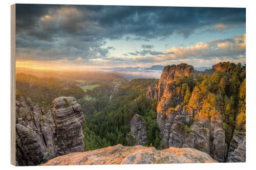
M222 115L222 127L225 141L230 143L233 134L246 131L246 72L240 63L223 63L225 71L207 69L194 71L189 76L182 75L173 84L173 96L180 101L173 101L172 107L192 106L201 110L202 115L210 117L215 112ZM115 79L117 80L117 79ZM84 151L90 151L116 145L132 145L126 139L130 132L130 122L135 114L145 121L147 146L161 149L162 138L157 126L157 99L146 98L148 86L154 87L159 79L133 79L118 81L120 87L113 91L116 83L96 81L92 89L82 90L57 78L37 78L33 75L18 73L16 88L41 107L52 106L58 96L74 96L82 107L85 117L83 124ZM121 83L120 83L121 82ZM67 83L66 83L67 84ZM90 99L84 96L90 96ZM195 117L193 121L197 121ZM185 125L189 130L191 125Z

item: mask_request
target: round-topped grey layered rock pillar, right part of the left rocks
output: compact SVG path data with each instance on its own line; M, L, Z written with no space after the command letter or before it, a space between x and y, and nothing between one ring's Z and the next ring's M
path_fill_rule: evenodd
M53 103L57 156L83 151L82 107L72 97L59 97Z

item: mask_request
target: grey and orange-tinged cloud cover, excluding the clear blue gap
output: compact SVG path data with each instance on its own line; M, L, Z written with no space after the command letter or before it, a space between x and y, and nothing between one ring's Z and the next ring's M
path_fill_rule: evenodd
M166 51L143 44L122 56L106 41L153 41L198 29L222 32L245 27L244 8L16 5L16 55L20 61L141 63L245 55L245 34Z

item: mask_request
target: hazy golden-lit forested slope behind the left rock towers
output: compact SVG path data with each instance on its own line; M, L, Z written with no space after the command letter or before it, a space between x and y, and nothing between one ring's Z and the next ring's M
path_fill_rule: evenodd
M57 78L38 78L24 73L16 74L16 93L28 96L36 104L48 108L53 107L52 101L59 96L74 96L81 99L85 95L81 88Z

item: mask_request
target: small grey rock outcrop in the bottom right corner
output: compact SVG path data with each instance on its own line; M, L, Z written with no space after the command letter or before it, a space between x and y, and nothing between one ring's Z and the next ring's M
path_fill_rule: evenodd
M245 162L246 161L246 135L245 132L239 132L233 135L229 145L227 162Z

